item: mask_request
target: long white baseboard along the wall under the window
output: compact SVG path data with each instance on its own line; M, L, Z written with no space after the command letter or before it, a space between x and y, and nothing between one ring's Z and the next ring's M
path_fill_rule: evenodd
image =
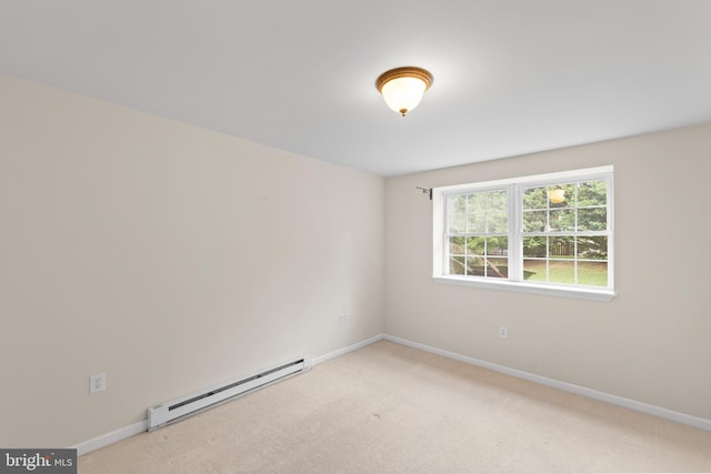
M393 335L384 334L385 341L391 341L398 344L407 345L421 351L431 352L433 354L442 355L444 357L453 359L455 361L464 362L468 364L477 365L483 369L489 369L494 372L499 372L505 375L511 375L518 379L523 379L530 382L540 383L541 385L551 386L565 392L574 393L577 395L587 396L589 399L607 402L612 405L622 406L624 409L634 410L637 412L647 413L648 415L657 416L664 420L670 420L677 423L681 423L688 426L698 427L700 430L711 431L711 420L701 418L685 413L674 412L672 410L662 409L660 406L650 405L635 400L625 399L623 396L612 395L605 392L599 392L597 390L588 389L580 385L574 385L567 382L560 382L554 379L548 379L541 375L531 374L528 372L510 369L504 365L492 364L491 362L480 361L478 359L468 357L465 355L457 354L454 352L443 351L441 349L432 347L430 345L412 342L407 339L397 337Z

